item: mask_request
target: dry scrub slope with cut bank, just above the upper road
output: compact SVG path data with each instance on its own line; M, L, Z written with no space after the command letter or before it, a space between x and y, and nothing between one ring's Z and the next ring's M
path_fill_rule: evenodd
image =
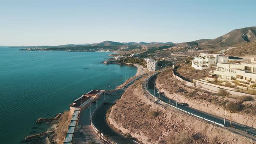
M157 87L172 99L176 99L177 96L179 102L222 118L224 118L224 106L228 102L227 119L231 118L230 111L233 111L232 121L256 128L256 101L251 97L232 96L226 91L214 94L187 87L173 77L171 69L158 75Z

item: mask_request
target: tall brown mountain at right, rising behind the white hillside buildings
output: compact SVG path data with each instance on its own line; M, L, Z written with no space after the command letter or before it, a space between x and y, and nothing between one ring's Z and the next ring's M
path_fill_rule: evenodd
M256 26L235 29L216 39L201 43L201 46L232 46L256 40Z

